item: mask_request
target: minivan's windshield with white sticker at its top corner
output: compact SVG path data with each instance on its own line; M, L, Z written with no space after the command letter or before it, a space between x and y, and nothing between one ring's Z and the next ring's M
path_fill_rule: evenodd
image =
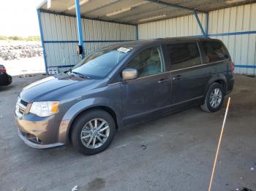
M92 78L106 77L129 54L130 49L126 50L124 51L120 47L108 47L94 52L77 63L72 69L72 72Z

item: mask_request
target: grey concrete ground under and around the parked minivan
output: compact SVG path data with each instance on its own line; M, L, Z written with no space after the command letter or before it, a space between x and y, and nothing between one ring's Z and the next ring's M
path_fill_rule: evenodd
M195 107L121 129L98 155L70 145L39 150L18 138L13 118L18 93L39 78L0 87L0 190L208 190L225 108ZM236 76L230 96L213 190L256 190L256 78Z

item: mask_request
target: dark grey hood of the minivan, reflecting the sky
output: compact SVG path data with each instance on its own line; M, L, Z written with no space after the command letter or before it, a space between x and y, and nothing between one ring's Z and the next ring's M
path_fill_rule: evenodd
M79 87L86 87L93 82L94 79L83 79L63 73L54 77L46 77L24 87L20 93L20 98L29 103L33 101L60 101L61 95L67 95L78 90ZM83 85L80 86L82 83Z

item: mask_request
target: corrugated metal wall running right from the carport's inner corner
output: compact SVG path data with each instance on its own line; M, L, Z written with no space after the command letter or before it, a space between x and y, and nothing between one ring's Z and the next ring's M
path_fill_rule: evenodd
M204 27L206 16L198 16ZM140 24L138 30L139 39L202 35L194 15ZM226 44L237 74L256 74L256 4L209 12L208 34Z

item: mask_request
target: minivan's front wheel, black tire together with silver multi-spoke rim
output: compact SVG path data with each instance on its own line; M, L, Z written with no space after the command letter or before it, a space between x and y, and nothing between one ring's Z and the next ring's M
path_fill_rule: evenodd
M97 130L100 126L102 127ZM83 155L94 155L107 149L115 133L116 124L113 117L108 112L95 109L75 120L72 125L71 142L73 147Z

